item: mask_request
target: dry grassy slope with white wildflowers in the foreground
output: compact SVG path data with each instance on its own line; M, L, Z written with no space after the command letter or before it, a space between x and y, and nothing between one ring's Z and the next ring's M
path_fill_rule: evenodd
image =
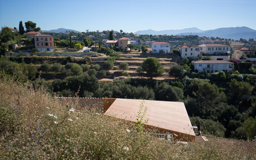
M1 79L0 159L256 159L253 143L177 144L77 106Z

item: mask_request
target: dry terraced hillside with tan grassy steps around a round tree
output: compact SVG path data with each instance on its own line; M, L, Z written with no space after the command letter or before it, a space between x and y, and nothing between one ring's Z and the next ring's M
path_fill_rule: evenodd
M113 81L116 79L126 79L126 76L122 76L122 70L119 69L119 65L121 62L127 62L129 64L129 70L127 71L130 77L135 79L149 79L147 76L140 76L136 72L136 68L141 66L143 61L147 57L156 57L158 58L159 62L164 67L164 73L162 76L154 77L155 80L172 80L175 79L168 75L168 70L171 66L177 65L179 63L180 57L175 54L168 54L168 55L159 55L159 54L142 54L141 52L127 52L127 53L120 53L121 58L116 60L115 66L113 70L109 71L107 77L103 79L99 79L99 81ZM93 64L102 65L106 57L97 57L93 58Z

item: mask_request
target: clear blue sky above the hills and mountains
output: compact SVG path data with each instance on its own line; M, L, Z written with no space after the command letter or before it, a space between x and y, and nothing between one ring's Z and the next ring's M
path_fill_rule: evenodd
M42 30L256 30L256 0L0 0L0 27L33 21Z

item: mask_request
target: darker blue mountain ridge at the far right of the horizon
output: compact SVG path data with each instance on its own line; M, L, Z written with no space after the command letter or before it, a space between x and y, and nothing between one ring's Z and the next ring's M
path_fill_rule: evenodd
M240 38L249 39L256 38L256 30L250 29L248 27L231 27L231 28L218 28L214 30L205 30L200 33L181 33L178 35L198 35L198 36L208 36L208 37L220 37L226 39L239 40Z

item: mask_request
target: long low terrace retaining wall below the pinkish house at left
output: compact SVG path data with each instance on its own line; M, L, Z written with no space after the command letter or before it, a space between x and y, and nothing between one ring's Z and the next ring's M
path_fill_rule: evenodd
M97 53L33 53L36 56L75 56L75 57L83 57L83 56L97 56ZM31 53L24 53L24 55L31 55ZM20 56L19 53L5 53L5 56Z

